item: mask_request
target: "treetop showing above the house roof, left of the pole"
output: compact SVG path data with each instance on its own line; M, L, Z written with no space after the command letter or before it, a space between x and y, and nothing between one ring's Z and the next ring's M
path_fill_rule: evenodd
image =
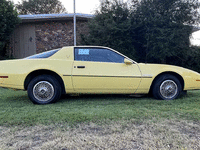
M19 14L65 13L66 9L59 0L22 0L16 4Z

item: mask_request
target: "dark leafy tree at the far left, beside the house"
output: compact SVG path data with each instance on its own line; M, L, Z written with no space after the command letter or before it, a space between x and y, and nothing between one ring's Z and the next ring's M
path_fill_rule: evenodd
M0 55L5 56L5 45L15 26L20 22L13 3L0 0Z

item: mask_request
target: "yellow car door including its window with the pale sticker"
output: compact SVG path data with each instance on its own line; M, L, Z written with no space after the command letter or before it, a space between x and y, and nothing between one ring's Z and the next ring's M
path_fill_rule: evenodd
M72 82L80 93L134 93L141 81L137 64L125 64L124 56L106 48L74 49Z

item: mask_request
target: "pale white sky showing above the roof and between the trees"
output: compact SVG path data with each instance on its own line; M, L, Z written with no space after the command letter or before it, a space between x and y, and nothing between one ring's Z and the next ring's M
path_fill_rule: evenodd
M12 0L15 4L21 0ZM74 13L74 0L60 0L68 13ZM129 0L121 0L127 2ZM75 0L76 13L93 14L100 5L100 0ZM194 32L191 38L191 44L200 46L200 31Z

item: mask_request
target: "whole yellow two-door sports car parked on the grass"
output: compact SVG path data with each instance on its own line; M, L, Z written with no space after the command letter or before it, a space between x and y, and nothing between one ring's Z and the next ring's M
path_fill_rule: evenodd
M27 90L33 103L55 102L66 93L148 94L172 100L200 89L200 74L182 67L137 63L100 46L63 47L0 62L0 86Z

